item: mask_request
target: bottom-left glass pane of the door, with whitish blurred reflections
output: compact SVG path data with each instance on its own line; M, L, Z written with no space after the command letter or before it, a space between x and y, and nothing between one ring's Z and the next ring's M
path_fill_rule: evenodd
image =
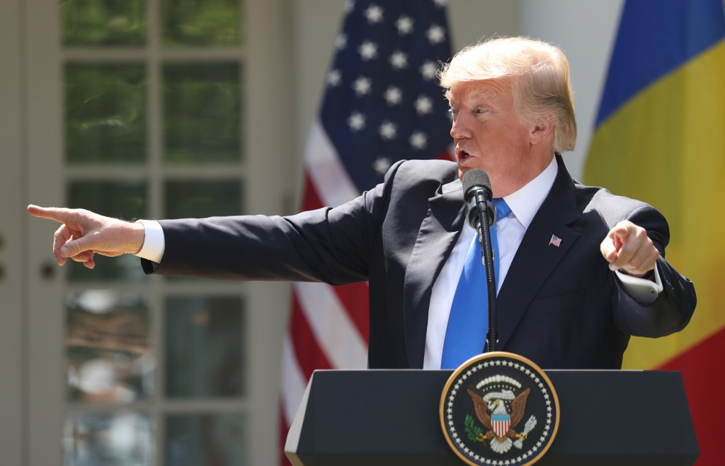
M65 420L65 466L152 466L154 425L134 412L73 412Z

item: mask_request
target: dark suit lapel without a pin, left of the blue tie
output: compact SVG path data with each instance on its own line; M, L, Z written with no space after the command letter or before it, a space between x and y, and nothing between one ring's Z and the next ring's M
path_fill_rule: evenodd
M421 222L410 253L403 284L405 344L411 368L423 367L431 288L460 234L465 206L460 179L442 186L428 199L428 214Z

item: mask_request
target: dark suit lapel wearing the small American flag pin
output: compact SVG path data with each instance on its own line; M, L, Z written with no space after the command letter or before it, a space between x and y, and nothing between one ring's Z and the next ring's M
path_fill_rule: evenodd
M581 216L573 182L560 156L557 160L554 185L523 235L497 297L498 349L505 349L531 300L579 238L579 232L568 226ZM559 247L550 245L552 235L561 239Z

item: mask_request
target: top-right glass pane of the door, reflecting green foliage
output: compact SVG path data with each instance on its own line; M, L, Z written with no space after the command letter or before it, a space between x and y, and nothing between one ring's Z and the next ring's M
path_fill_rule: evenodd
M167 46L239 46L240 0L162 0Z

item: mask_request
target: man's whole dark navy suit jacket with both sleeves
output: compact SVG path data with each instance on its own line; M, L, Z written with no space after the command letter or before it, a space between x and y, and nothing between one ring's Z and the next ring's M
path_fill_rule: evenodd
M655 208L573 182L558 156L554 185L497 298L498 349L542 368L621 368L630 335L682 329L695 289L664 259ZM370 368L422 368L431 287L463 228L457 166L403 161L381 185L336 208L295 216L161 221L165 253L144 270L218 279L370 284ZM618 221L647 229L664 291L642 305L621 288L600 242ZM549 244L552 234L560 247ZM482 285L483 289L483 285Z

